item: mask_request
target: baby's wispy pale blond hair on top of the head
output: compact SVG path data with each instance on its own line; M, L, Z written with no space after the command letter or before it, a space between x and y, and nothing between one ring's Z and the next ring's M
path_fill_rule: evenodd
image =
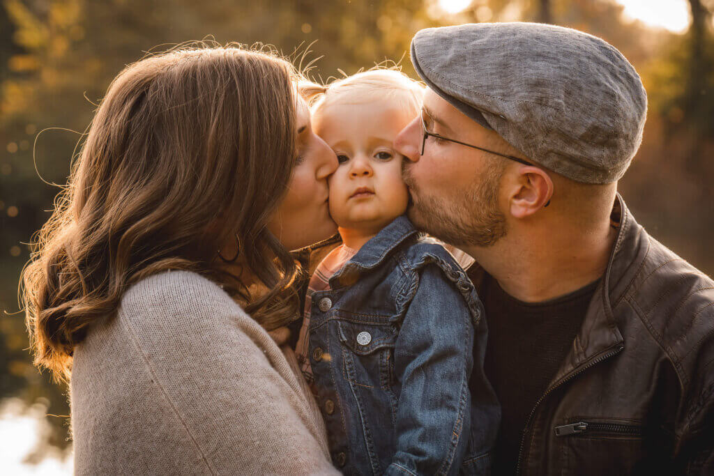
M301 83L299 89L313 114L333 103L361 104L384 99L398 101L406 113L416 116L421 110L424 93L421 83L397 69L383 68L336 79L325 86Z

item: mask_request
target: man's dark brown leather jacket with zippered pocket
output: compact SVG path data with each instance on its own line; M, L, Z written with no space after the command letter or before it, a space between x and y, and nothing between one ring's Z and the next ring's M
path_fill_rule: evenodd
M531 411L518 474L714 475L714 282L619 195L613 218L604 279ZM483 270L469 275L478 288Z

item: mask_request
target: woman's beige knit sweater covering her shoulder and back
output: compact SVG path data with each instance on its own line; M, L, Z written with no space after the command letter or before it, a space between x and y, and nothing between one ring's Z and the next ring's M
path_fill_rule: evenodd
M337 473L286 355L196 273L129 288L76 348L70 390L79 475Z

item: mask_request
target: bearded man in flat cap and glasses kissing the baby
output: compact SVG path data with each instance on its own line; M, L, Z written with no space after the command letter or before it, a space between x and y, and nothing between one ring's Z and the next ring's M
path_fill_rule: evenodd
M617 193L647 108L633 66L542 24L422 30L411 58L408 216L478 263L494 472L714 474L714 283Z

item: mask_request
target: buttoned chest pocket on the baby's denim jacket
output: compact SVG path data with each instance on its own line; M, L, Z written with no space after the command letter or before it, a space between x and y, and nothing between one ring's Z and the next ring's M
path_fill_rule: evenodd
M390 323L338 321L343 374L362 388L391 391L396 329Z

